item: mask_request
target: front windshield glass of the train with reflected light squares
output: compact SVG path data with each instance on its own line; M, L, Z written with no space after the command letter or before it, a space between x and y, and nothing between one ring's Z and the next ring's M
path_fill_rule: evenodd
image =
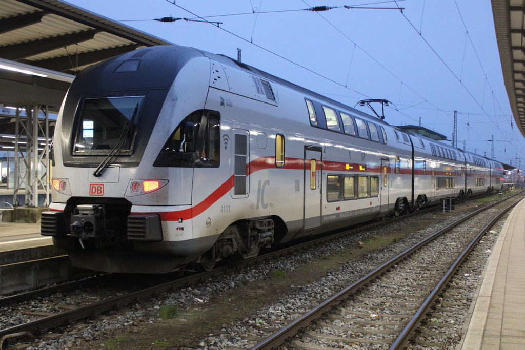
M119 155L131 155L144 100L145 95L86 98L73 154L103 155L119 149Z

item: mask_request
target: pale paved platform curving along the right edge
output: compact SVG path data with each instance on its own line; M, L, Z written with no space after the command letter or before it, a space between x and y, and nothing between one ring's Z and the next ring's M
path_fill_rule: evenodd
M492 249L472 301L461 350L525 349L525 199Z

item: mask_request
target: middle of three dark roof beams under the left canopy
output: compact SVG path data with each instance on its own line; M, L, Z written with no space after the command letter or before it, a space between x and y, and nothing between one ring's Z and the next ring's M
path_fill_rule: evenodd
M26 43L3 46L0 57L17 61L26 57L35 56L61 47L78 44L90 40L99 33L99 29L81 31L80 33L60 35L53 38L27 41Z

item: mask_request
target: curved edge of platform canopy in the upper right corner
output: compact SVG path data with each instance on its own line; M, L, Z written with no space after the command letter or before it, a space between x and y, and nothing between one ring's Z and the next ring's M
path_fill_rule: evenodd
M525 136L525 1L491 2L510 108L516 125Z

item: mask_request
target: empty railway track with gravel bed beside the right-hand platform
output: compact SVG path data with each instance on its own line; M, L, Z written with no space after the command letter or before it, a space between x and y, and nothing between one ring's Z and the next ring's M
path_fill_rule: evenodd
M450 303L436 305L436 301L439 304L447 282L480 238L516 205L516 198L512 202L488 224L473 219L485 210L501 207L500 202L478 209L437 231L313 307L251 350L279 347L320 350L346 345L367 349L405 348L432 307L447 311L447 307L454 306ZM433 331L425 332L432 338ZM417 339L415 343L442 347Z

